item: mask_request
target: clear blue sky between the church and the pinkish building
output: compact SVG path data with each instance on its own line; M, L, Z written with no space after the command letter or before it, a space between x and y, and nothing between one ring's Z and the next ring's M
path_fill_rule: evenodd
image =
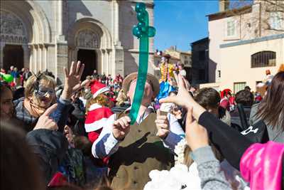
M208 36L207 14L218 12L218 1L154 0L155 49L177 46L190 50L190 43Z

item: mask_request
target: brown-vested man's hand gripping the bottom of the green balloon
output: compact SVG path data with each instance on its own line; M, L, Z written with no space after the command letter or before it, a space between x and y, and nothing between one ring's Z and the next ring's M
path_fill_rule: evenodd
M129 116L124 116L119 118L119 120L114 121L112 134L114 134L116 139L122 140L126 134L129 133L130 122L131 119Z

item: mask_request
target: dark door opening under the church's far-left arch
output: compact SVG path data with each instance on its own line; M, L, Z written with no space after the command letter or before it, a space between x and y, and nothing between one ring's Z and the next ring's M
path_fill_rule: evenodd
M4 47L4 69L9 70L11 65L21 70L23 68L23 48L18 45L6 45Z

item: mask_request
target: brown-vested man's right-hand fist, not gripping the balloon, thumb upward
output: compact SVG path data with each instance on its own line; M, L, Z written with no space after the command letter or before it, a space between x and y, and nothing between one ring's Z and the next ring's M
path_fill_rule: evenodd
M164 139L167 137L169 130L169 122L167 115L160 115L160 110L157 110L157 118L155 120L155 126L157 127L157 136Z

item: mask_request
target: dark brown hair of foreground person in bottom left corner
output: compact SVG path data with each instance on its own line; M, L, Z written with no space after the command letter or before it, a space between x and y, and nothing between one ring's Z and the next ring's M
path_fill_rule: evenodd
M1 185L5 190L44 190L38 161L26 143L23 132L0 122Z

